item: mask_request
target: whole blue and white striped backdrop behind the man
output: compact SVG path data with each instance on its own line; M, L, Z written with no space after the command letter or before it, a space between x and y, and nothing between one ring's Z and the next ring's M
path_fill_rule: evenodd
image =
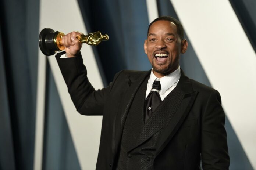
M256 169L255 9L255 0L2 0L0 170L96 167L102 117L76 111L55 57L39 50L40 30L109 35L81 50L98 89L122 69L151 68L143 42L162 15L184 26L185 74L221 94L230 169Z

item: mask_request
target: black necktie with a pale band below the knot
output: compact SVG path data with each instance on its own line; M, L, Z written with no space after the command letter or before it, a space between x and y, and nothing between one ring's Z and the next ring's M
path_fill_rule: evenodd
M149 117L153 114L156 110L157 106L161 103L161 97L159 95L159 90L161 90L160 81L154 81L152 86L152 91L150 91L149 95L147 95L145 106L145 119L144 122L146 123Z

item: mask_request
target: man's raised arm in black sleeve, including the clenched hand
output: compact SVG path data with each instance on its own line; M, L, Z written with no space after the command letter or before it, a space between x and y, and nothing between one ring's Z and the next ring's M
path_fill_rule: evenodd
M103 115L104 101L111 84L102 90L95 90L90 84L80 53L82 44L76 38L79 35L82 34L72 32L63 37L65 52L58 53L56 59L77 111L83 115ZM60 58L65 53L67 58Z

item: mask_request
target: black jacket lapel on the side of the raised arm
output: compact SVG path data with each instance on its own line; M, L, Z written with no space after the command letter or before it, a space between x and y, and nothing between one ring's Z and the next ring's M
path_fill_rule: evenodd
M150 70L151 71L151 70ZM125 82L127 82L127 88L124 93L124 97L122 100L122 106L119 113L115 116L115 122L113 124L113 138L112 139L112 151L115 155L116 153L116 146L120 145L121 137L122 137L122 131L124 129L124 123L125 119L127 117L127 113L129 111L129 108L131 106L132 100L134 99L134 96L136 92L138 91L138 88L141 86L143 80L150 74L150 71L143 72L139 76L130 76L125 75ZM124 87L125 88L125 87Z

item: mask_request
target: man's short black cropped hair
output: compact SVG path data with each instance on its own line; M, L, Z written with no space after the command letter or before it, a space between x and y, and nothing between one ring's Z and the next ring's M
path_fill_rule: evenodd
M158 17L158 18L154 19L154 21L152 21L149 24L149 28L156 21L170 21L170 22L173 22L176 25L177 33L178 33L179 37L181 38L181 40L183 40L183 38L184 38L183 26L182 26L181 22L179 22L177 19L175 19L173 17L169 17L169 16ZM147 29L147 36L149 35L149 28Z

